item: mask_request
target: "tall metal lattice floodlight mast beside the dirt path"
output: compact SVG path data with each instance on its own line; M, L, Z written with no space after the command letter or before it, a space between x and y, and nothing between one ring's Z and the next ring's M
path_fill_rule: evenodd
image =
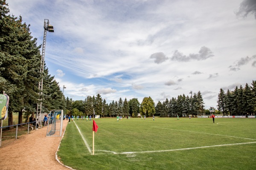
M39 96L40 96L40 98L38 99L37 110L36 110L36 117L38 118L40 123L41 123L42 94L43 94L43 80L44 80L44 76L43 76L43 73L44 73L44 55L45 55L45 44L46 44L46 33L47 33L47 31L54 32L53 26L49 25L49 20L48 19L44 19L44 40L43 40L43 45L42 45L41 67L40 67L40 74L42 76L42 79L38 83L38 89L39 89Z

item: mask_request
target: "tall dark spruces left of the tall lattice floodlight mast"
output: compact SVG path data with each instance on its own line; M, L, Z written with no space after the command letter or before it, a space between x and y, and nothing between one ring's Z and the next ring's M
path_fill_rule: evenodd
M0 0L0 9L0 90L10 97L9 125L13 125L13 111L19 112L20 123L24 108L35 111L40 46L32 39L29 26L22 23L22 17L7 15L5 0Z

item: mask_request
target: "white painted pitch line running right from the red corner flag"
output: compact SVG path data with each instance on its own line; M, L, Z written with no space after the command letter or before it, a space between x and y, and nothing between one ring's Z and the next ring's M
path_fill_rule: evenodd
M230 145L238 145L238 144L252 144L252 143L256 143L256 142L236 143L236 144L220 144L220 145L213 145L213 146L201 146L201 147L189 147L189 148L171 149L171 150L141 151L141 152L116 153L116 152L108 151L108 150L96 150L96 151L110 152L110 153L114 153L114 154L154 153L154 152L170 152L170 151L177 151L177 150L191 150L191 149L200 149L200 148L207 148L207 147L221 147L221 146L230 146Z

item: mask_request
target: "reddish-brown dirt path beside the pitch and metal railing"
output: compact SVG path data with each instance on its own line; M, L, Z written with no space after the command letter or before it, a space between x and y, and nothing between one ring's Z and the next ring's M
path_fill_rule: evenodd
M63 121L62 134L68 120ZM69 170L55 159L61 137L46 137L47 127L0 147L1 170Z

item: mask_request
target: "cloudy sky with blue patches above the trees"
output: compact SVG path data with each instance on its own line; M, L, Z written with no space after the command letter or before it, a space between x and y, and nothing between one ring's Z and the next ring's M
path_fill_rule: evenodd
M256 0L6 0L30 24L64 95L155 104L256 80Z

